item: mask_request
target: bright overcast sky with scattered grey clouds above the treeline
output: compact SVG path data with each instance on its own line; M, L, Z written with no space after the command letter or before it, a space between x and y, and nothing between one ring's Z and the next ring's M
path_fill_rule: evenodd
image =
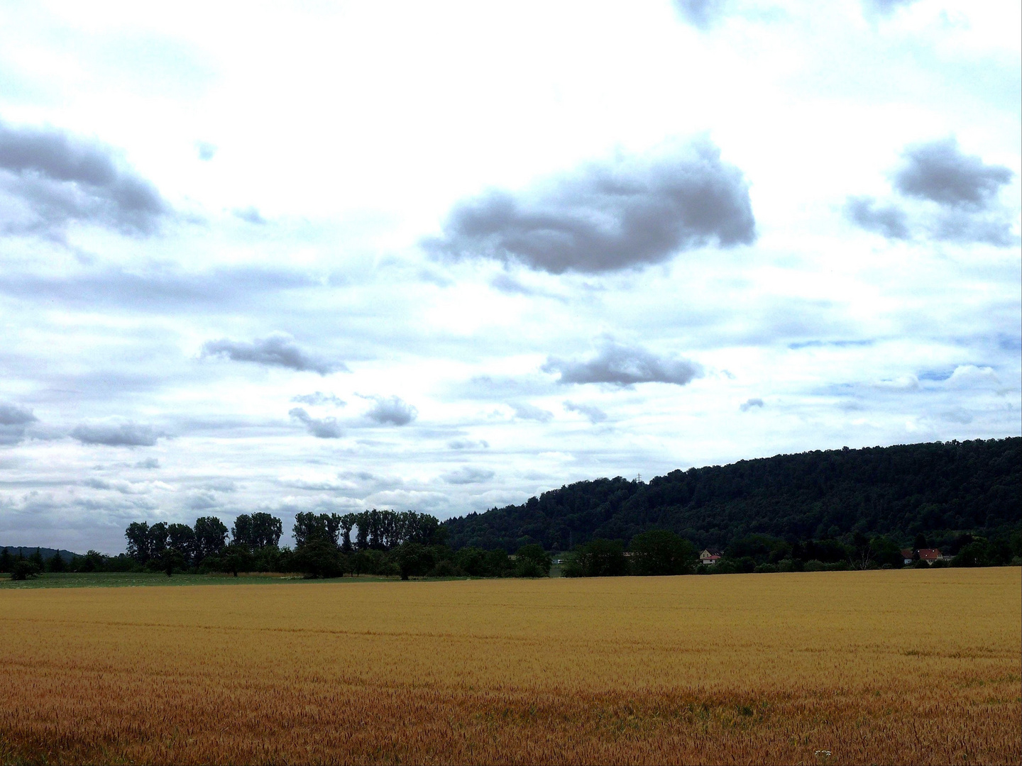
M1020 434L1020 23L0 4L0 544Z

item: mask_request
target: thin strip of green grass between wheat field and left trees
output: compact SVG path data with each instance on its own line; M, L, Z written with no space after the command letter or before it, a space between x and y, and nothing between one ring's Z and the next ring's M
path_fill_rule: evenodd
M300 582L352 582L387 580L386 577L343 577L335 580L307 580L297 574L242 574L234 577L229 574L176 574L168 577L162 572L89 572L89 573L56 573L46 572L28 580L11 580L9 575L0 575L0 589L17 590L21 588L109 588L109 587L146 587L150 585L272 585L279 583Z

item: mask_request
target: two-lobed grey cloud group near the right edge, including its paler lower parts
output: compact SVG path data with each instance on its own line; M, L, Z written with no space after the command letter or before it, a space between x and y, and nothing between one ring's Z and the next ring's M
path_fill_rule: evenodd
M1011 212L997 200L1014 173L963 153L954 137L913 144L892 174L898 202L850 196L845 217L887 239L925 237L1007 247L1018 242ZM914 210L909 207L914 207Z

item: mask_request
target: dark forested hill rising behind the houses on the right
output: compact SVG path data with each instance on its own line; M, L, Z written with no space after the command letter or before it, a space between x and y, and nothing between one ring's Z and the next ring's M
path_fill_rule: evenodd
M860 532L911 544L1022 527L1022 438L779 454L672 471L649 483L580 481L445 522L452 547L565 550L593 537L669 529L699 546L747 534L787 539Z

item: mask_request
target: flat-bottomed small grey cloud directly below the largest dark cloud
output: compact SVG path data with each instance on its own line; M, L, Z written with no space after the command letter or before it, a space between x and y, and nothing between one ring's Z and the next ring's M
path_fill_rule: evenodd
M690 360L656 356L639 346L605 343L588 362L569 362L551 356L543 366L546 373L560 373L558 383L672 383L684 386L703 375L702 367Z

